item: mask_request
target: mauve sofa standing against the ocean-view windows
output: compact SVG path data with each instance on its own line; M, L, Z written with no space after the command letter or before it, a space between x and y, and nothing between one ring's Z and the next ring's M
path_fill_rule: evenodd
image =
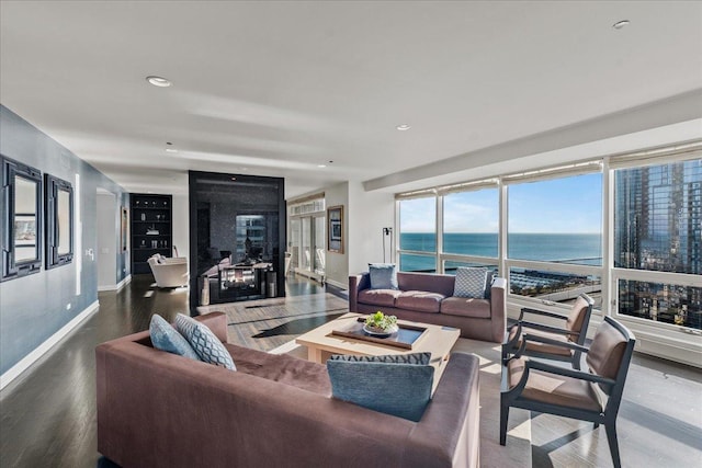
M349 276L349 310L377 310L416 322L454 327L461 336L501 343L507 281L495 277L480 299L454 297L452 275L398 272L398 289L371 289L370 273Z

